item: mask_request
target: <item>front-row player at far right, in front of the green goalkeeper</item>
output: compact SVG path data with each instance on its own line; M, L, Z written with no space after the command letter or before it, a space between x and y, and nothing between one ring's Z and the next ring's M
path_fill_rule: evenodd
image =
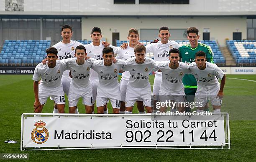
M202 104L197 107L197 112L203 112L207 106L207 100L210 99L213 112L220 112L223 89L225 85L225 73L215 64L206 62L206 54L198 51L195 54L195 62L189 65L189 69L197 81L197 92L195 101ZM219 83L218 78L221 80Z

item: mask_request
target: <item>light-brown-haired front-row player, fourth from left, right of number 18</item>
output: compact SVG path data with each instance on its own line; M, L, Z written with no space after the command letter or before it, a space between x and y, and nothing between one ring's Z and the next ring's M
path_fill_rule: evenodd
M134 53L135 57L126 60L123 66L123 71L131 74L125 95L125 113L132 113L134 103L141 100L147 112L151 113L151 85L148 75L151 71L158 70L158 67L153 59L145 57L146 47L144 45L136 45ZM145 113L144 111L139 112Z

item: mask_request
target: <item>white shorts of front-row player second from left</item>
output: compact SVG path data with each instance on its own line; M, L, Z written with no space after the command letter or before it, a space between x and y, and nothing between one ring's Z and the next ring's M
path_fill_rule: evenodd
M77 88L73 84L70 84L69 107L77 106L80 97L82 97L84 105L92 106L92 86Z

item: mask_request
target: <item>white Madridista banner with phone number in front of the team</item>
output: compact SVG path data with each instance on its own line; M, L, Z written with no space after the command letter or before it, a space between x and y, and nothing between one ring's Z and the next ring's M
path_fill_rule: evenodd
M223 116L24 117L22 147L223 145Z

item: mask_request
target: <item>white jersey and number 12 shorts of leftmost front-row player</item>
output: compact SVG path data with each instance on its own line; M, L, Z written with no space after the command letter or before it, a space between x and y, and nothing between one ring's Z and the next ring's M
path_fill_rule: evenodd
M46 103L48 97L52 97L56 104L65 104L65 97L63 86L61 84L61 77L63 72L68 70L67 65L62 64L60 60L56 60L56 66L49 68L40 63L36 66L33 80L41 83L38 85L38 97L41 105Z

